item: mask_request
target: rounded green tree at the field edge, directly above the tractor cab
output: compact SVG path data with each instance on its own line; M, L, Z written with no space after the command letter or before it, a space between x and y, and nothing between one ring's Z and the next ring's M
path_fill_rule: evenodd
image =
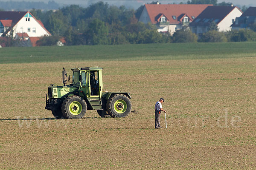
M87 44L90 45L108 44L108 26L103 21L94 19L89 24L86 37Z

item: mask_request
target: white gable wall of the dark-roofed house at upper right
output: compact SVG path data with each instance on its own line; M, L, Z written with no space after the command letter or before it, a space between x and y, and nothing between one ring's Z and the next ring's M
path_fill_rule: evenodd
M219 31L230 31L232 20L236 20L236 17L240 17L242 12L238 8L234 8L220 23L218 23Z

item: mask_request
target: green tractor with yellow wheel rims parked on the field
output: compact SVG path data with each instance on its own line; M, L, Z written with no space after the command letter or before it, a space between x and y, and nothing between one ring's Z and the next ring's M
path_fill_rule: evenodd
M73 79L68 81L62 71L63 86L51 85L46 95L45 109L56 119L79 119L87 110L96 110L101 117L125 117L131 112L131 96L127 92L102 92L102 68L71 68Z

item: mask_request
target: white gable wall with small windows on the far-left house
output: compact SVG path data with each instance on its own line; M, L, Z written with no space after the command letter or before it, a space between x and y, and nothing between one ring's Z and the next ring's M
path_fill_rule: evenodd
M28 28L30 28L30 31L28 30ZM33 32L34 28L35 32ZM16 33L27 33L29 37L43 37L44 35L49 36L49 33L33 17L21 18L21 20L15 25L13 30L13 37L16 36Z

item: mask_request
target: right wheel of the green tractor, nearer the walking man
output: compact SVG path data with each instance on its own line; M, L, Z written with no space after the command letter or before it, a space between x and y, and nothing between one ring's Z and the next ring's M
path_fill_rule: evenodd
M111 117L126 117L131 112L131 101L124 94L116 94L108 99L106 108Z

